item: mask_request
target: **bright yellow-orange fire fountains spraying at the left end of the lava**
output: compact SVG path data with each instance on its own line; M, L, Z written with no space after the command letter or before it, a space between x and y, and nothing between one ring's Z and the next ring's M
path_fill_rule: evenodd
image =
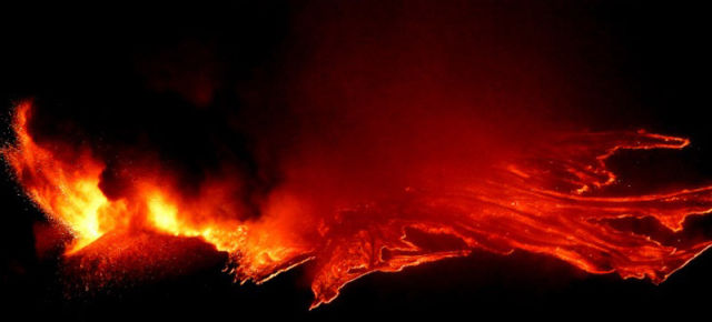
M221 191L208 191L197 200L179 201L171 199L177 193L170 185L159 183L161 178L147 175L129 198L107 199L99 188L105 165L92 158L89 150L62 153L69 155L62 159L33 141L27 129L31 108L31 102L18 105L13 124L17 147L3 149L2 154L32 201L51 220L71 231L73 241L67 246L68 255L109 232L129 230L199 237L219 251L239 251L240 258L249 254L254 258L249 265L243 268L245 271L261 272L279 266L295 255L296 250L279 245L279 239L269 238L264 232L249 234L246 223L201 213L229 204ZM229 184L217 183L216 187L228 189ZM240 251L244 249L249 250ZM257 274L247 278L255 276Z

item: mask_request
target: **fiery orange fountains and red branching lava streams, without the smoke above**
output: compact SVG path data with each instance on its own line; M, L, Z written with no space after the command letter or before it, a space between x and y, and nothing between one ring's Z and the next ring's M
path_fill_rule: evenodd
M657 283L712 244L664 244L609 222L653 218L681 232L689 215L712 211L712 187L634 197L586 194L615 182L605 161L617 150L682 149L689 141L681 138L645 132L567 135L523 151L522 158L493 167L492 175L467 187L408 188L385 201L303 218L294 210L299 200L286 195L250 219L234 213L241 211L230 200L239 189L234 179L206 183L198 195L186 198L155 165L137 169L140 175L130 191L109 199L99 184L105 164L89 148L34 141L27 129L31 111L29 102L18 107L17 144L2 154L27 194L72 232L67 256L101 248L107 234L149 231L200 238L228 252L230 272L239 281L259 283L314 260L313 308L333 301L344 284L370 272L396 272L466 255L472 249L503 254L520 249L591 273L616 272ZM443 235L458 242L433 242Z

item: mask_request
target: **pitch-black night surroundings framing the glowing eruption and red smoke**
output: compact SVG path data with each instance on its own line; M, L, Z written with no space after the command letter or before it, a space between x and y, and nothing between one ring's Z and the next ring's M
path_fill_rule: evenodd
M343 12L357 9L358 14L345 20L368 23L370 19L384 19L384 14L387 18L389 10L408 10L413 2L178 7L2 4L2 140L11 140L10 108L26 98L34 98L59 117L88 123L96 118L116 115L107 111L127 110L122 113L126 119L111 123L120 129L119 134L116 129L87 130L99 135L113 133L107 134L108 140L119 141L130 141L134 130L147 131L156 123L189 127L192 115L185 111L190 108L175 108L176 112L174 107L234 104L250 110L254 109L250 103L258 101L269 109L286 100L279 94L286 83L280 79L288 77L288 72L283 71L297 69L290 66L285 52L297 59L309 54L307 49L298 48L301 42L291 40L294 23L297 23L295 16L304 19L312 11L322 16L333 12L338 21L338 14L348 16ZM681 1L475 3L465 7L472 10L473 17L486 16L493 21L495 27L491 31L495 38L531 33L535 37L527 38L527 46L561 54L552 60L561 62L558 68L567 71L562 82L570 89L565 92L571 93L566 101L578 103L571 107L573 112L562 112L561 118L591 119L586 125L590 129L644 127L691 138L693 144L686 151L675 152L675 157L657 155L666 162L664 169L655 165L657 161L652 157L635 167L650 167L639 171L654 171L656 179L674 183L702 183L709 182L706 178L712 179L709 165L712 128L708 125L706 115L712 57L706 43L710 20L701 4ZM437 14L439 8L458 8L462 2L419 1L417 4L418 10L432 7ZM443 10L451 12L451 9ZM447 19L442 22L446 23ZM265 93L276 94L268 102L255 99L267 95ZM142 118L136 117L138 111L145 111ZM274 113L267 115L274 117ZM255 120L259 123L259 118ZM200 147L204 138L195 134L199 132L200 129L194 129L185 137L159 138L158 144L169 153L175 141L180 141L180 147ZM190 142L198 144L184 144ZM198 150L172 152L177 155L200 153L200 148L195 149ZM240 159L245 159L245 167L251 167L249 158ZM661 170L666 174L659 173ZM709 252L657 286L649 281L624 281L616 275L589 275L561 261L522 252L511 256L475 252L469 258L396 274L367 275L348 284L332 304L312 312L307 311L312 294L304 278L308 268L255 286L231 283L218 263L188 275L98 293L67 294L58 263L36 255L32 227L43 221L43 215L9 175L1 180L0 298L6 299L2 306L28 318L237 320L287 315L333 320L445 314L475 320L485 313L530 312L563 318L620 316L663 312L704 314L710 300L712 254ZM705 227L702 230L709 232L710 225Z

